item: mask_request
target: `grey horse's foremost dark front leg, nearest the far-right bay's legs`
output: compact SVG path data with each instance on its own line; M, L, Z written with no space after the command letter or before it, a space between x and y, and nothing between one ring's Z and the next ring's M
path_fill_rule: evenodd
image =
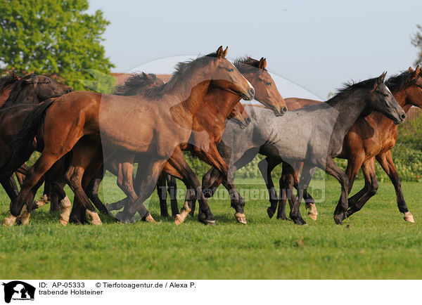
M341 185L341 195L337 207L335 207L334 221L336 224L342 224L348 207L349 178L347 177L347 174L335 164L331 157L327 157L326 173L337 179Z

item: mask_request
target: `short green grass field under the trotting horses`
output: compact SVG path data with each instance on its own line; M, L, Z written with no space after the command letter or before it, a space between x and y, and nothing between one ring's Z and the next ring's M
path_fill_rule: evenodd
M262 181L237 183L256 188ZM308 226L269 219L264 199L247 200L247 226L235 222L228 200L210 200L216 227L191 217L174 226L171 218L160 218L156 195L149 208L158 225L106 219L103 226L63 227L45 206L32 213L28 226L0 228L0 278L422 278L421 183L402 184L416 223L403 221L389 181L343 226L332 217L340 196L336 181L326 181L318 221L302 205ZM362 181L354 191L359 187ZM111 177L103 192L106 199L122 197ZM9 202L3 190L0 195L3 219Z

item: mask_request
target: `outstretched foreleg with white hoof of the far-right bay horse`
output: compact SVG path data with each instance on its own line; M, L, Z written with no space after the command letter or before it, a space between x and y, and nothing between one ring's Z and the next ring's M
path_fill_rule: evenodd
M395 169L394 162L392 162L391 150L384 152L382 155L376 156L376 160L383 167L386 174L390 178L392 185L395 188L396 197L397 197L397 207L399 212L403 213L403 218L405 221L415 222L414 217L407 209L406 201L404 200L404 195L402 191L402 183L400 181L399 174Z

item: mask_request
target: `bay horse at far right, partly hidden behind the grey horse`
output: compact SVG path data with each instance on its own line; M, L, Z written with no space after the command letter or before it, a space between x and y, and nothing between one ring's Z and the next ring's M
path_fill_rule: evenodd
M393 96L395 96L397 103L402 106L404 112L408 112L412 106L422 108L421 73L419 66L416 67L416 70L409 67L409 70L392 76L385 82ZM298 99L297 101L302 105L309 105L309 102L319 103L315 100L305 99ZM289 99L286 98L286 103L288 102ZM347 132L345 141L343 142L343 150L338 157L347 160L346 174L350 181L349 191L352 190L359 168L362 169L364 174L365 185L362 190L359 190L359 192L349 198L350 207L345 214L346 217L362 209L364 204L376 194L376 191L378 190L378 181L376 179L375 171L376 160L385 173L388 174L390 181L395 187L399 212L403 214L405 221L414 222L414 217L409 212L404 200L399 174L392 161L391 150L394 148L397 141L397 128L398 126L394 124L391 119L381 115L379 112L372 112L365 117L359 117L350 128L350 131ZM279 160L269 157L265 160L267 161L267 164L262 164L262 167L264 168L262 172L266 173L264 179L269 181L269 186L271 188L271 170L280 162ZM268 165L268 168L266 165ZM280 189L290 190L293 186L293 181L295 181L295 185L297 185L299 172L300 164L295 169L286 167L285 171L285 164L283 163L283 174L281 177L281 181L283 182L280 183ZM271 193L274 193L274 190L272 190ZM305 202L307 202L307 205L309 203L312 205L314 200L309 194L308 196L309 197L305 198ZM273 195L273 197L276 197L276 195ZM274 214L275 209L276 200L273 200L271 202L271 207L268 209L270 217L272 216L271 213ZM277 218L285 219L285 209L286 199L283 197L279 202ZM316 220L316 207L314 207L314 205L309 206L309 209L309 216L312 217L313 215L314 217L312 217L312 219Z

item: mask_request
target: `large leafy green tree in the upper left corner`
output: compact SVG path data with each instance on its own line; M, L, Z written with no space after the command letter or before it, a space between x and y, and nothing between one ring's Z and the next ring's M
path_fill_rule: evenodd
M0 62L25 74L56 74L74 89L89 70L114 67L101 46L110 23L102 11L87 13L87 0L1 0Z

